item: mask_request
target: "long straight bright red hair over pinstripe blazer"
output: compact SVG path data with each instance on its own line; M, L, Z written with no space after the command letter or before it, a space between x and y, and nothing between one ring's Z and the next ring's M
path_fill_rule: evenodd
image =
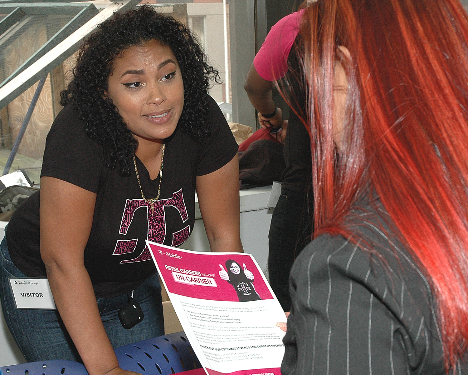
M314 236L349 237L353 204L376 193L431 281L446 370L455 368L468 343L467 14L459 0L319 0L300 37ZM349 81L338 153L336 60Z

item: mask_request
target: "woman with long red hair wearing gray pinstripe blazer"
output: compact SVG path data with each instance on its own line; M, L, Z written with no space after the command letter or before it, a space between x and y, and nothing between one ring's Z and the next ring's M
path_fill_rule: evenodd
M468 16L318 0L300 36L314 240L291 270L282 373L464 373Z

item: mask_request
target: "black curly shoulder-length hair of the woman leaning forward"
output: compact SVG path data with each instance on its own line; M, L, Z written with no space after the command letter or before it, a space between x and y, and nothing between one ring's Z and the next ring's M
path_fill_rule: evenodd
M61 105L73 102L86 123L87 135L102 144L108 154L107 165L119 167L122 176L132 173L132 156L138 141L127 128L112 100L105 95L113 62L133 46L157 40L171 48L179 64L184 90L184 105L178 127L201 141L208 105L210 79L220 82L216 69L208 65L200 45L189 30L172 17L158 14L148 5L114 16L98 26L81 46L73 80L60 93Z

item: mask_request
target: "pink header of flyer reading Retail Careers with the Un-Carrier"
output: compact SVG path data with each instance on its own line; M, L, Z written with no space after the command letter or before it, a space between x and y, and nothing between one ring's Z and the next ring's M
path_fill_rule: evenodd
M152 243L149 249L170 293L218 301L273 299L250 255L191 254Z

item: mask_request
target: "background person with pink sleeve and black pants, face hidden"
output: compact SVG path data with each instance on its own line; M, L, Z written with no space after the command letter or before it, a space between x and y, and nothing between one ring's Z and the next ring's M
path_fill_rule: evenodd
M291 306L289 271L296 256L310 242L312 234L312 217L307 209L313 202L308 189L311 175L310 139L297 115L301 113L305 100L300 79L295 78L300 77L301 69L295 59L296 54L291 52L301 45L297 35L304 10L287 15L271 28L244 84L250 102L258 111L262 128L270 129L272 133L278 131L284 139L286 168L282 174L281 195L271 218L268 270L271 287L285 311L289 311ZM288 121L283 119L281 108L273 101L272 93L274 82L285 76L292 85L283 91L294 98Z

